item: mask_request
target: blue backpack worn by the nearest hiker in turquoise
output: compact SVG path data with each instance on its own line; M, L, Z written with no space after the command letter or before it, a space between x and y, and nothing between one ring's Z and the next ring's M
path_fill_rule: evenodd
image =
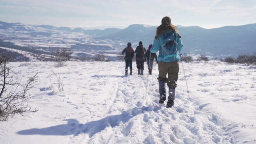
M164 58L174 57L178 48L178 43L175 41L176 32L164 32L161 36L164 40L164 44L162 45Z

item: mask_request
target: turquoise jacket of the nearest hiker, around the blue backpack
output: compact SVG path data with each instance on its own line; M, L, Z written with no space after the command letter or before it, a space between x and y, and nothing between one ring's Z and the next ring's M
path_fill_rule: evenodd
M172 32L172 31L170 31ZM176 34L176 40L175 40L177 43L178 43L178 49L177 51L181 51L182 50L182 47L183 47L183 44L182 44L182 41L180 38L178 38L178 34ZM152 53L156 53L159 51L159 55L158 55L158 62L173 62L173 61L176 61L176 60L180 60L178 58L178 54L176 52L176 54L174 54L174 57L170 57L170 58L164 58L162 52L163 52L163 49L162 49L162 45L164 44L163 42L163 38L162 36L158 36L157 39L154 39L154 43L153 43L153 47L150 48L150 52Z

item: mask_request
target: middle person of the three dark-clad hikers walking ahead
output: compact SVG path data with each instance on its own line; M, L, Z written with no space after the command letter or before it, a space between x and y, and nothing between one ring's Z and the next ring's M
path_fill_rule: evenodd
M146 48L143 47L142 42L139 42L135 50L136 54L136 61L137 61L137 68L138 68L138 75L143 75L144 70L144 62L145 62L145 52L147 52Z

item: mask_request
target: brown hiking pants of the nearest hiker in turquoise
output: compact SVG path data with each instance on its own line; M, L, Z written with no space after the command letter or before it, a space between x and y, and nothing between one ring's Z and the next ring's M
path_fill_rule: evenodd
M169 88L176 88L179 70L180 66L178 60L174 62L158 62L158 82L164 81ZM166 77L167 74L168 78Z

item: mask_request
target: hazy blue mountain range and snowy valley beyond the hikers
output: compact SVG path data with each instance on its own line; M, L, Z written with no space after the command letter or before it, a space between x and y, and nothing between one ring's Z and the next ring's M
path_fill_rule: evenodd
M256 24L224 26L212 29L205 29L199 26L176 27L182 36L183 53L191 56L205 54L210 58L225 58L227 56L236 57L240 54L252 54L256 52ZM25 38L26 41L29 41L32 36L38 39L47 38L47 40L41 41L44 44L47 43L50 45L53 43L52 38L58 35L62 41L58 42L57 40L56 42L55 40L55 43L66 44L74 49L78 45L81 46L81 44L109 46L113 51L108 53L118 54L128 42L131 42L132 46L136 48L138 43L142 41L144 47L147 48L149 44L154 42L156 28L157 26L132 24L124 29L106 28L104 30L84 30L83 28L72 29L50 25L25 25L22 23L0 22L0 42L10 42L11 44L19 45L21 37L24 41L24 35L27 35L28 37ZM78 34L80 35L77 36ZM90 40L84 40L86 38ZM28 46L28 43L24 44L23 42L20 45ZM36 47L31 45L33 44L30 44L30 47ZM5 47L8 47L8 44ZM86 47L84 50L86 51ZM100 48L94 52L97 54L100 52ZM93 54L90 53L89 55Z

